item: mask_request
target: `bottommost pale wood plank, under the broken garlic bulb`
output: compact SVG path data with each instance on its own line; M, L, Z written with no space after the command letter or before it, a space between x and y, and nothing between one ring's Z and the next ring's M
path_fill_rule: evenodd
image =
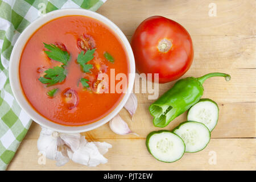
M109 160L97 167L86 167L69 162L56 167L55 162L46 160L38 164L36 140L25 139L19 147L8 170L255 170L256 139L211 139L208 146L195 154L185 153L175 163L162 163L155 160L147 151L144 139L108 139L113 145L105 154ZM131 150L131 146L133 146ZM216 164L213 163L216 156ZM210 160L210 163L209 163Z

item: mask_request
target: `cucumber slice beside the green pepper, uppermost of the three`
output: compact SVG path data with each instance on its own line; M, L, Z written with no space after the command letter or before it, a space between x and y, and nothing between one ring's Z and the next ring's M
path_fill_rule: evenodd
M212 131L218 122L218 105L209 98L203 98L188 110L187 119L203 123Z

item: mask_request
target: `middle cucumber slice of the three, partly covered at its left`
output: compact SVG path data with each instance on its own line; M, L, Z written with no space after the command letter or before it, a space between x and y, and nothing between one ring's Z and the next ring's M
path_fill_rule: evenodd
M210 141L209 129L200 122L186 121L177 126L173 132L180 136L185 143L185 152L203 150Z

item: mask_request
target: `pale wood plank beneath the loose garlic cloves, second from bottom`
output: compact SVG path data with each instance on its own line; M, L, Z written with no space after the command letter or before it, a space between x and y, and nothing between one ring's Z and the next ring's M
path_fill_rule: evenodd
M109 124L98 127L92 131L84 133L90 140L97 139L141 139L146 138L147 134L154 130L161 130L161 128L154 127L152 124L152 117L148 112L149 104L139 104L138 110L134 115L134 121L131 121L129 113L122 109L121 117L128 123L131 130L139 134L139 137L134 135L117 135L113 133ZM256 103L254 102L237 102L237 103L218 103L220 107L220 114L218 124L212 131L212 138L246 138L256 137L255 118L256 118ZM179 123L186 121L187 112L181 114L174 121L172 121L166 130L172 130ZM41 128L35 122L32 123L25 139L38 139Z

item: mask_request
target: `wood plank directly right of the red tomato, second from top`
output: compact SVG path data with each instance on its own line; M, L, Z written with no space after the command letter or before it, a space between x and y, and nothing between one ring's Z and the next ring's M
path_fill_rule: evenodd
M256 68L256 35L192 35L192 41L191 68Z

